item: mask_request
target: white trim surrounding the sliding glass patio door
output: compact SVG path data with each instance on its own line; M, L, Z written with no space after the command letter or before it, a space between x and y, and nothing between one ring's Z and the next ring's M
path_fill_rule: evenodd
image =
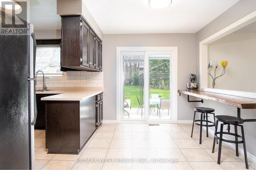
M171 92L172 92L172 113L171 119L144 119L144 121L129 119L125 120L125 122L129 123L177 123L178 119L178 47L177 46L117 46L116 47L116 115L117 115L117 123L123 123L124 121L121 119L120 111L122 107L121 98L121 89L122 89L122 64L121 64L121 52L170 52L172 54L171 58L171 72L175 74L171 74L172 83L170 84ZM146 107L146 106L145 106Z

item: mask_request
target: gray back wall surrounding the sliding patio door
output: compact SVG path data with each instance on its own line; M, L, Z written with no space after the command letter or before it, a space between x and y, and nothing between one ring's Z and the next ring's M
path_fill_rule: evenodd
M116 119L116 47L178 46L178 89L184 89L188 75L196 72L195 34L109 34L103 35L104 120ZM185 107L184 107L185 106ZM194 104L178 96L178 120L193 119Z

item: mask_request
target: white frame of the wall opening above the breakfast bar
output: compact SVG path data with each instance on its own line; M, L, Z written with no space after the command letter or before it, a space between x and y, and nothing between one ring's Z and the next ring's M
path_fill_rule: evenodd
M200 41L200 44L199 44L199 48L200 48L199 49L200 50L200 53L199 53L199 55L200 55L200 90L256 99L255 92L208 88L208 44L211 42L214 42L228 34L238 31L239 29L246 27L246 26L250 25L250 23L255 22L255 21L256 21L256 11L239 19L238 21L232 23L231 25L220 30L219 32L209 36L208 38Z

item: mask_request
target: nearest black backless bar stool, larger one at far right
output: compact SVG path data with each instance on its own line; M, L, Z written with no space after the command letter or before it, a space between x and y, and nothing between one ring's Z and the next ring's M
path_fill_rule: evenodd
M239 156L238 143L243 143L245 165L246 165L246 168L248 169L249 166L248 166L247 153L246 153L244 128L243 128L243 125L241 125L241 124L243 124L244 122L249 122L249 121L246 121L246 120L244 120L240 117L227 116L227 115L218 115L218 116L216 116L216 119L217 120L216 120L216 127L215 127L214 144L212 146L212 153L214 153L214 150L215 150L215 141L216 141L216 139L219 139L219 151L218 151L218 161L217 161L217 163L220 164L220 162L221 162L222 141L229 142L229 143L236 143L236 155L237 156ZM217 132L219 122L222 122L222 124L221 124L220 132ZM227 132L223 132L224 125L227 125ZM234 126L234 133L230 132L230 125ZM238 135L238 126L241 128L242 136ZM234 136L235 140L224 139L223 135ZM241 140L238 140L238 138L241 139Z

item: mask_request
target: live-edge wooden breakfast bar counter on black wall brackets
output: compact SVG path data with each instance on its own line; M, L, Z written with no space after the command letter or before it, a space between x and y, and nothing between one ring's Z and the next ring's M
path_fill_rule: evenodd
M188 102L201 102L201 101L190 101L189 96L195 96L197 98L206 99L209 101L223 103L229 106L238 108L238 117L241 117L241 109L256 109L256 99L244 98L240 96L227 95L227 94L219 94L207 91L187 91L187 90L178 90L181 94L187 95ZM247 122L254 122L255 119L247 119Z

